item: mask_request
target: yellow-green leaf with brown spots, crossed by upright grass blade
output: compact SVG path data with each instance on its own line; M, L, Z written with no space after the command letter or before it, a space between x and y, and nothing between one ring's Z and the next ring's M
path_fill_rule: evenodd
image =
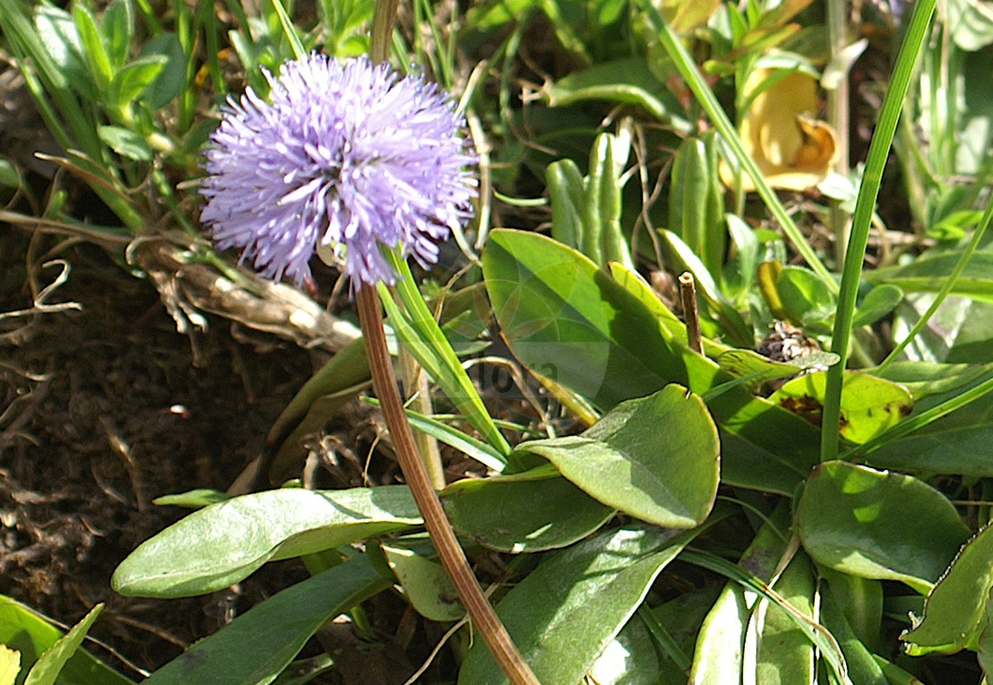
M815 424L824 406L827 372L807 373L787 381L769 400ZM861 371L847 371L841 393L840 435L862 444L896 426L914 409L904 386Z

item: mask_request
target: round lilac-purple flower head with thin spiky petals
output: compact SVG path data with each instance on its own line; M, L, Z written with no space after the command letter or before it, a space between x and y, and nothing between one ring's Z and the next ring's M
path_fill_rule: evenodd
M315 252L353 287L394 281L379 243L434 264L476 197L448 95L365 58L312 55L267 77L272 102L251 88L229 100L206 153L201 220L217 247L298 285Z

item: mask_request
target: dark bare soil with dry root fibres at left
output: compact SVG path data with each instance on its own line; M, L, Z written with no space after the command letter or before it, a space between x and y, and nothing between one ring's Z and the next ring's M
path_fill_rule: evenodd
M31 307L26 253L28 235L0 227L0 313ZM109 587L136 545L184 513L151 500L226 488L311 359L220 319L191 341L151 285L105 253L75 246L60 256L71 273L49 303L81 310L0 318L0 593L67 623L106 602L92 634L151 670L306 576L298 564L274 565L240 594L169 602ZM58 272L37 278L45 285Z

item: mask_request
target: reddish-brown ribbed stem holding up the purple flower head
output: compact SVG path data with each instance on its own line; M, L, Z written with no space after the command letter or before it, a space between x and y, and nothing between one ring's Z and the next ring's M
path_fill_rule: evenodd
M424 465L417 454L413 433L407 423L403 404L396 390L396 378L390 363L389 351L386 348L386 336L382 328L382 313L379 310L379 299L375 290L363 285L355 294L358 305L358 318L365 334L365 352L368 354L369 370L372 373L372 387L379 398L386 427L393 437L393 447L396 450L400 470L407 480L417 502L417 508L424 517L424 526L431 536L442 566L452 578L462 604L473 620L473 625L479 630L483 640L490 647L497 664L513 685L537 685L530 667L521 657L517 647L510 639L503 623L483 595L473 570L469 567L466 554L455 537L452 525L445 517L441 500L431 485Z

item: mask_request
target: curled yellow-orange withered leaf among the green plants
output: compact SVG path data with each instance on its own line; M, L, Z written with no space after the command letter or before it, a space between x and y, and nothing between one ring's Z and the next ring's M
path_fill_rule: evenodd
M774 74L755 69L745 82L753 92ZM747 99L747 98L746 98ZM739 133L745 151L773 188L804 191L823 181L838 153L837 136L826 122L814 118L817 111L817 81L793 71L757 94L741 121ZM721 165L721 178L734 183L731 169ZM746 191L755 185L742 175Z

